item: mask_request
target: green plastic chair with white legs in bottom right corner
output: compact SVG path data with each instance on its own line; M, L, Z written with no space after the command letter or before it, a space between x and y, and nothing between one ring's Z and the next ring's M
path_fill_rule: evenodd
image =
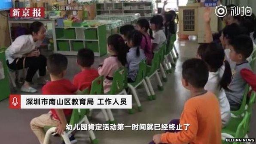
M223 131L222 129L222 144L225 144L226 138L248 138L247 131L250 123L250 114L245 113L243 120L235 128L232 129L232 133ZM234 142L233 144L241 144L240 142Z

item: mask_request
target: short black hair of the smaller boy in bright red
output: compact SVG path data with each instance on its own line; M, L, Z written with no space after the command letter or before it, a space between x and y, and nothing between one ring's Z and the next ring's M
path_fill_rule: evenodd
M82 48L77 53L77 63L82 67L91 67L94 63L94 53L88 48Z

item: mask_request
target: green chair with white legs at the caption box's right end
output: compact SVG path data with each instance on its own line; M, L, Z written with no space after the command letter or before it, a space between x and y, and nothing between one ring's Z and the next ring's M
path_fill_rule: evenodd
M131 90L131 93L134 96L134 99L137 103L138 111L142 111L140 100L139 100L137 92L136 92L136 88L138 86L140 86L140 84L144 85L148 99L149 100L153 99L152 95L149 92L149 88L146 84L145 78L146 78L146 60L142 60L139 63L139 71L137 73L135 81L133 83L128 83L128 87Z

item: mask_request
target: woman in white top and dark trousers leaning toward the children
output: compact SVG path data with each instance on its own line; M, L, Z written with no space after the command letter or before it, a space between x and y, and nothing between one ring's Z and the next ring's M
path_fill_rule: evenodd
M45 35L46 28L43 23L35 21L30 26L29 34L17 37L5 51L7 66L10 69L28 68L25 82L21 87L23 92L37 92L36 89L30 86L30 82L37 70L39 70L40 75L38 83L46 83L46 57L41 55L38 49Z

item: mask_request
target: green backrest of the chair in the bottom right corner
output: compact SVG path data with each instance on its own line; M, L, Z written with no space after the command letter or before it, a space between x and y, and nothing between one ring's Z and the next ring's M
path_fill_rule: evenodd
M249 113L246 112L244 115L243 120L241 123L238 125L238 128L235 133L235 138L244 138L244 136L247 134L248 130L248 124L249 124ZM240 144L239 142L234 142L234 144Z

